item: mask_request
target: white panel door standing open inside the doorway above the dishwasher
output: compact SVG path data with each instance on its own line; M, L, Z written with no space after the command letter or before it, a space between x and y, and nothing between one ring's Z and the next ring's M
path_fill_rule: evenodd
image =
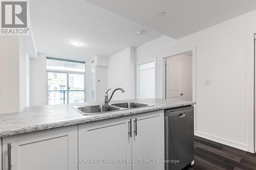
M182 99L182 63L166 60L166 99Z

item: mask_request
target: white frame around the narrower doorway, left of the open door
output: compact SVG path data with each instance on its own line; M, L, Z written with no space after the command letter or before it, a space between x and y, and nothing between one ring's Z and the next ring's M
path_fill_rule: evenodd
M143 61L143 62L140 62L137 64L137 72L136 72L136 75L137 75L137 92L136 92L136 98L137 99L140 99L139 98L139 92L140 92L140 89L139 89L139 80L140 80L140 75L139 75L139 66L141 64L146 64L146 63L151 63L151 62L155 62L155 98L157 98L157 58L153 58L153 59L150 59L150 60L146 60L146 61Z

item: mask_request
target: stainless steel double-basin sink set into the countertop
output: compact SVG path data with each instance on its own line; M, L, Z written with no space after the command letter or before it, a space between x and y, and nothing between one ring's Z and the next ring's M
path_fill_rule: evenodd
M73 106L73 108L83 115L91 115L91 114L106 113L106 112L112 112L112 111L135 109L135 108L150 107L150 106L153 106L153 105L134 103L134 102L124 102L124 103L114 103L111 105Z

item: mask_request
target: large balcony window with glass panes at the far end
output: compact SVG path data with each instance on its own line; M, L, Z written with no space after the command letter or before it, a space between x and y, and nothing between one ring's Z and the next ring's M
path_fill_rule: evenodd
M48 104L83 103L85 63L47 58Z

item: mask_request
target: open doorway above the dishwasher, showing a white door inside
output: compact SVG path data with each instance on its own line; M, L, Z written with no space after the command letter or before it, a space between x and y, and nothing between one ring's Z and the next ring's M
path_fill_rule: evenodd
M193 101L193 52L165 59L165 99Z

